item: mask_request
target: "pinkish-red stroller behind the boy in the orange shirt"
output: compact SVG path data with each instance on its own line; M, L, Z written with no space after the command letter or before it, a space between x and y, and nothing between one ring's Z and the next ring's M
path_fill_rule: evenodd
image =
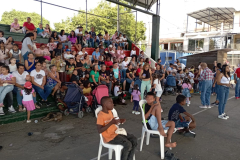
M109 96L108 87L106 85L99 85L93 90L92 94L93 94L92 110L95 111L98 108L98 105L101 104L102 97Z

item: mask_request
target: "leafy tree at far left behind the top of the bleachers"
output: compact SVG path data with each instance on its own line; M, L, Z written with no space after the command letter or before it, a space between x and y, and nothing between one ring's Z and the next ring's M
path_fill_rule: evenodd
M8 24L11 25L13 23L14 18L18 19L18 23L20 26L23 25L24 22L27 21L27 17L31 18L31 22L35 25L35 27L38 27L38 24L41 23L41 15L33 12L33 13L28 13L28 12L23 12L23 11L16 11L13 9L10 12L4 12L2 15L2 19L0 21L0 24ZM43 18L43 24L50 24L50 22Z

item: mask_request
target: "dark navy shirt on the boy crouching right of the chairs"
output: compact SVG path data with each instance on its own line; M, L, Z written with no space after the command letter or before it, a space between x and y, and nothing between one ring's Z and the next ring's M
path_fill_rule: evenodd
M186 110L179 103L175 103L169 110L168 120L176 122L179 120L179 114L184 112L186 112Z

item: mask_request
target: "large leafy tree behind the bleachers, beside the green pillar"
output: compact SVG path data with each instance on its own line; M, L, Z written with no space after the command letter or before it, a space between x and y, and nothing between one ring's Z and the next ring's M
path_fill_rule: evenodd
M123 3L126 2L123 1ZM119 6L119 12L131 12L131 9ZM86 29L86 14L79 12L72 18L68 17L66 20L62 20L61 23L54 23L56 31L59 32L64 29L66 33L70 33L71 30L75 30L80 25L83 26L83 30L87 31L90 31L92 26L95 27L97 34L104 34L104 31L108 31L110 35L113 35L117 30L117 5L112 6L110 2L101 1L96 8L88 11L88 13L107 17L108 19L88 14ZM126 34L133 42L135 41L135 28L137 28L136 42L145 40L146 27L142 21L137 22L136 26L133 13L125 13L120 16L120 32Z

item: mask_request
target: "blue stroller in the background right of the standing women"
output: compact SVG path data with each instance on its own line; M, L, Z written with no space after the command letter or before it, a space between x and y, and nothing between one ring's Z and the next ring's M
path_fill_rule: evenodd
M168 95L168 93L176 95L176 78L171 74L166 79L163 94Z

